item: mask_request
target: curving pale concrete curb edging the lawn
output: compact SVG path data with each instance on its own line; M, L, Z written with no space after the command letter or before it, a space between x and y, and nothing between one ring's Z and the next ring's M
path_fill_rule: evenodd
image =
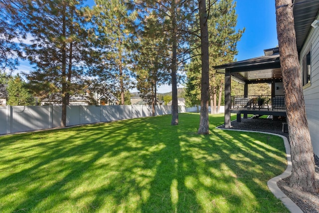
M276 198L281 200L281 202L287 207L287 209L291 213L303 213L303 211L290 199L288 198L278 187L277 182L287 178L291 175L292 173L292 162L291 162L291 151L290 151L290 144L288 142L287 137L280 135L280 134L275 134L271 132L262 132L262 131L250 131L250 130L239 130L239 129L226 129L221 127L223 125L217 126L216 128L218 129L223 129L223 130L231 130L231 131L244 131L244 132L259 132L263 134L272 134L276 136L280 136L284 139L284 144L285 144L285 149L286 149L286 155L287 155L287 168L285 172L281 175L278 175L277 177L274 177L270 179L267 182L267 186L270 189L270 191L275 195Z

